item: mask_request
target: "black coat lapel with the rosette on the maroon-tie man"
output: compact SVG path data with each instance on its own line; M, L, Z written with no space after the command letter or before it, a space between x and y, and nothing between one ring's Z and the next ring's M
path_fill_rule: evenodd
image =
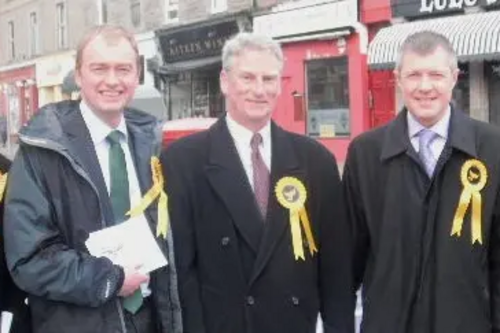
M290 230L289 211L282 207L274 193L276 183L282 177L295 177L304 183L307 188L305 170L299 166L299 161L292 145L292 137L289 133L276 126L271 125L272 153L271 153L271 182L269 188L269 206L267 221L261 246L255 261L254 272L250 283L255 281L268 263L276 245ZM293 256L293 253L290 253Z

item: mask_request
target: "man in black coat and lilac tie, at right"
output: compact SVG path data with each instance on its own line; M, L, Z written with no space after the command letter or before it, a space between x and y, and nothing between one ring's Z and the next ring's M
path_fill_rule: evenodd
M400 52L405 108L345 165L361 331L500 332L500 131L450 106L445 37L419 32Z

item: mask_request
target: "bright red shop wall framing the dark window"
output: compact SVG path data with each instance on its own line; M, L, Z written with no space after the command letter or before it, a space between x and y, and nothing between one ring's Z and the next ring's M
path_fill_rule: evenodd
M366 55L360 53L357 34L345 38L347 45L344 55L348 56L351 136L319 139L335 154L340 163L345 160L347 147L351 139L367 130L370 124ZM273 118L282 127L296 133L305 134L305 114L307 113L307 110L305 110L305 62L308 59L338 57L343 54L337 49L336 40L288 43L283 45L283 52L286 58L282 81L283 92ZM302 117L296 110L299 103L296 100L294 101L294 92L298 92L303 96L302 106L304 112Z

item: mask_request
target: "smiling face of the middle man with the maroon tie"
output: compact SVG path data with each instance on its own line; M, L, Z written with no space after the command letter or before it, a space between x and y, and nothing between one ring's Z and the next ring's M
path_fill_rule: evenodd
M220 82L227 112L257 132L271 119L281 92L281 62L271 51L244 49L222 70Z

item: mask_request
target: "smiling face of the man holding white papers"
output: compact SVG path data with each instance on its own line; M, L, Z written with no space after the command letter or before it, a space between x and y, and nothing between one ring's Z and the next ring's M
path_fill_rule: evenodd
M75 80L92 111L105 122L115 123L139 84L137 53L124 37L97 36L83 49Z

